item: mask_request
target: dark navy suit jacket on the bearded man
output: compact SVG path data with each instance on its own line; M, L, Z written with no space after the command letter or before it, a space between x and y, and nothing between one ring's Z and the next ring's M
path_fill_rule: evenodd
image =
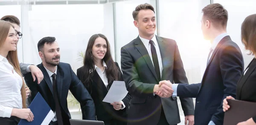
M33 81L31 73L27 73L25 75L26 84L32 92L29 100L32 101L35 98L35 95L39 92L44 97L50 108L55 111L52 82L46 69L44 68L44 65L39 64L37 66L43 72L44 80L41 81L40 84L37 84L37 80ZM84 119L95 120L95 106L93 99L71 69L70 64L58 64L56 80L58 98L61 105L61 115L64 125L70 125L69 119L71 119L70 112L67 108L67 95L69 90L82 105L81 109L83 110L84 116L86 116Z

